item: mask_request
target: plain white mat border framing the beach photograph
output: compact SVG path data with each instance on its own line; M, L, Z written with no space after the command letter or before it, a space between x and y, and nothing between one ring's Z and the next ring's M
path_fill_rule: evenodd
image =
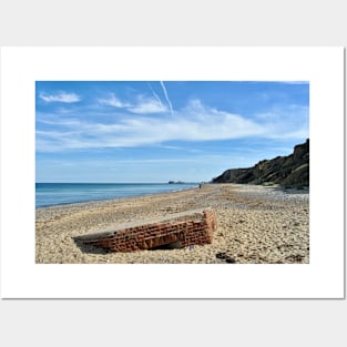
M37 265L37 80L309 81L310 264ZM3 298L343 298L343 48L1 49Z

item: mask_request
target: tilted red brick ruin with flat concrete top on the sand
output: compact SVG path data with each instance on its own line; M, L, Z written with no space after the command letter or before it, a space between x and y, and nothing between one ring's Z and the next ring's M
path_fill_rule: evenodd
M170 244L182 247L211 244L217 227L213 210L194 210L155 220L143 220L109 227L74 241L112 252L151 249Z

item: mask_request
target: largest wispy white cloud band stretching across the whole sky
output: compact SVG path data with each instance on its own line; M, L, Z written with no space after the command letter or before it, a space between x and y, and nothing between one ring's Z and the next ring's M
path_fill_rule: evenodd
M163 112L152 100L141 100L131 108L134 113ZM167 110L165 110L167 111ZM52 122L52 120L50 120ZM62 125L57 121L57 125ZM131 113L118 114L113 123L91 123L85 120L64 119L64 131L37 131L38 151L61 151L101 147L131 147L163 145L167 141L221 141L258 136L264 139L296 139L306 134L306 124L289 127L286 120L278 122L255 122L239 114L205 106L200 100L162 116L135 116Z

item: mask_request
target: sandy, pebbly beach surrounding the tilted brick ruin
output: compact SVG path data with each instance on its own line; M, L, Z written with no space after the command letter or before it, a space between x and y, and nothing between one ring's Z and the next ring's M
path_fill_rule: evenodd
M73 237L195 208L216 212L212 244L106 252ZM38 208L37 264L308 264L308 190L204 184L172 193Z

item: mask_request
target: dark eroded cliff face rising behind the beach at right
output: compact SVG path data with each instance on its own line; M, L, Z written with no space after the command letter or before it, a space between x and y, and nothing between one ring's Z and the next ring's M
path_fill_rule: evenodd
M264 160L247 169L226 170L212 182L309 186L309 140L296 145L290 155Z

